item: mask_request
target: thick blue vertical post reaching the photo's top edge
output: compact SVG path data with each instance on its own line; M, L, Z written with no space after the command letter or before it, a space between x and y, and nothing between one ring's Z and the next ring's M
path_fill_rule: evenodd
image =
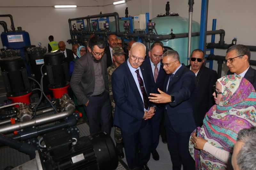
M208 2L209 0L202 0L202 4L201 4L199 48L202 51L204 51L204 54L205 54L205 44L206 44Z

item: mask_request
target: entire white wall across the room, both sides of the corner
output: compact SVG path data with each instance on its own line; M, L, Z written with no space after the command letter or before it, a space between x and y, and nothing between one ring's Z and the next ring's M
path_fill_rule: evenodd
M68 18L81 17L86 15L118 12L124 17L125 7L128 7L129 15L150 13L150 18L156 17L159 13L165 13L167 0L130 0L125 4L112 5L117 0L12 0L1 2L0 14L12 14L15 27L22 26L28 31L32 44L41 42L47 46L48 36L52 34L56 41L66 41L70 38ZM188 18L188 0L169 0L171 11L179 13L181 17ZM104 7L78 7L76 9L54 9L53 7L3 7L3 6L53 6L56 4L76 5L107 5ZM217 19L217 29L226 31L225 42L231 43L236 37L237 43L245 45L256 45L255 41L255 0L209 0L208 26L212 29L212 19ZM200 23L201 0L195 0L193 20ZM7 19L7 18L6 18ZM0 19L1 20L1 19ZM8 24L10 26L10 24ZM0 28L0 31L2 31ZM208 36L208 42L210 36ZM216 35L215 42L219 41ZM2 44L0 42L0 47ZM70 46L68 46L70 48ZM187 48L187 47L184 47ZM226 50L215 49L216 55L225 55ZM256 60L256 53L252 52L252 59ZM214 63L216 70L217 63ZM225 69L225 68L224 68ZM225 70L226 72L226 70Z

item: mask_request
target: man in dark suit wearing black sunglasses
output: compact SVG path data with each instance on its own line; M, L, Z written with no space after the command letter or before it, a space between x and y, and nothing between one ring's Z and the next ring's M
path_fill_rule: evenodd
M196 90L194 97L194 116L196 126L203 125L203 119L208 110L215 104L212 97L212 86L217 81L217 72L204 66L204 52L195 49L190 56L190 65L187 66L196 75Z

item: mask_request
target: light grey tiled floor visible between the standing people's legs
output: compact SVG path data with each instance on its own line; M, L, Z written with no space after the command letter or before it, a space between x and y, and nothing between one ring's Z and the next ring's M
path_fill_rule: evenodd
M114 128L111 129L111 137L112 139L114 139ZM167 149L167 144L164 144L162 142L161 137L156 150L159 154L160 159L156 161L152 158L152 155L151 155L150 160L148 161L149 169L150 170L172 170L172 161L170 158L170 153ZM127 164L125 157L123 161ZM181 170L183 170L182 167L181 167Z

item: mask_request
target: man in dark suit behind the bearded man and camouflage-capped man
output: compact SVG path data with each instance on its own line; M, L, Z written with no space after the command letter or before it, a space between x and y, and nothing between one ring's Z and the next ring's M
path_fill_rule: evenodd
M108 46L105 48L107 55L107 67L111 66L114 63L112 50L117 46L117 37L115 34L110 34L108 36Z

